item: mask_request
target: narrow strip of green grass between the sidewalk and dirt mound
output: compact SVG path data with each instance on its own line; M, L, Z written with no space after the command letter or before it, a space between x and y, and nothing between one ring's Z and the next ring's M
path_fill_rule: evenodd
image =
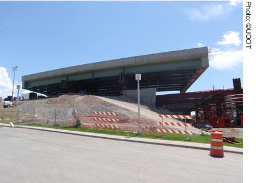
M167 141L185 141L185 142L195 142L195 143L203 143L203 144L211 144L211 137L205 134L202 135L187 135L187 139L185 139L185 135L182 134L169 134L164 133L162 137L162 133L159 132L142 132L143 135L136 135L135 133L132 133L132 131L123 130L123 129L115 129L115 132L113 129L108 128L85 128L85 127L53 127L53 126L44 126L44 125L28 125L32 127L44 127L44 128L54 128L54 129L65 129L70 131L80 131L80 132L90 132L95 134L107 134L107 135L118 135L118 136L124 136L124 137L134 137L134 138L149 138L149 139L162 139ZM185 140L184 140L185 139ZM235 139L238 142L241 142L242 144L235 145L230 144L227 142L223 142L223 145L229 146L229 147L237 147L237 148L243 148L243 139L236 138Z

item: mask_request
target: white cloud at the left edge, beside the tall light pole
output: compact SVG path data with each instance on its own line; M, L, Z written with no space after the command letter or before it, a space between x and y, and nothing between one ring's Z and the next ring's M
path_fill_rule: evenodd
M12 95L12 81L8 76L6 68L0 67L0 97L2 99L7 95Z

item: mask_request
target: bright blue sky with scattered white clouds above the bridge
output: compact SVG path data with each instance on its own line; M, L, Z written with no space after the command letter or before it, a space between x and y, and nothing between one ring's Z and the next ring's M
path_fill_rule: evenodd
M200 46L210 67L187 92L243 87L243 20L241 1L0 1L0 97L15 65L14 96L23 75Z

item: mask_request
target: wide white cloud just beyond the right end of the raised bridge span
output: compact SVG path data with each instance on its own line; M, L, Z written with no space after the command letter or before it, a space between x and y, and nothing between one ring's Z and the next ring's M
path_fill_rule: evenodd
M212 53L209 54L209 57L214 56L210 62L210 66L218 70L232 70L240 66L240 63L243 62L243 51L220 51L220 49L212 49Z

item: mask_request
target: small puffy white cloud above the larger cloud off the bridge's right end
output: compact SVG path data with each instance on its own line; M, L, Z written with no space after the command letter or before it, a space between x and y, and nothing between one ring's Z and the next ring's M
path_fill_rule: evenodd
M222 41L217 41L217 45L235 45L239 46L242 43L239 37L239 32L228 31L224 34Z

